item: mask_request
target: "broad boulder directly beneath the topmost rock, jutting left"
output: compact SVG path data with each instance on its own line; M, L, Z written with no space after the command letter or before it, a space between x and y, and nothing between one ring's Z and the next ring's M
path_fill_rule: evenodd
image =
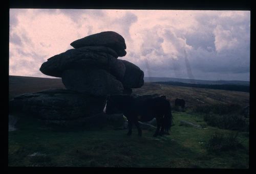
M104 69L112 73L116 78L122 79L125 65L116 59L110 48L101 46L96 50L92 46L69 49L65 53L55 55L42 63L40 71L48 76L62 77L62 73L68 69ZM108 51L108 52L106 52Z

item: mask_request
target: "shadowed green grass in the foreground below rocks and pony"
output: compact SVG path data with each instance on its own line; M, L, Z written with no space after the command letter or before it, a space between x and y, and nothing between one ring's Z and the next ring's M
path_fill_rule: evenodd
M215 131L205 126L203 116L173 112L170 135L153 137L154 130L143 130L142 137L133 130L104 127L94 131L53 130L37 120L22 118L17 130L9 132L9 166L77 166L77 167L169 167L169 168L248 168L248 136L243 148L212 154L205 144ZM204 129L179 126L186 120Z

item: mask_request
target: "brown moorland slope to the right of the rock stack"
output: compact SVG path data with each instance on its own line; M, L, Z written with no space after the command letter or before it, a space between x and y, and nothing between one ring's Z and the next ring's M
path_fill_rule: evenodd
M144 83L141 88L133 89L133 93L158 93L166 95L173 105L176 98L183 98L188 107L213 104L239 104L241 106L247 106L249 104L250 95L248 92L160 85L153 83Z

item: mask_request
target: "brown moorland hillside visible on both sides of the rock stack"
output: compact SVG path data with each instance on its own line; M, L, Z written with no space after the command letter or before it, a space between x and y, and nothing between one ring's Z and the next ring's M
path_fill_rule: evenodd
M26 92L37 92L45 89L65 88L61 79L34 78L22 76L9 76L9 99ZM249 104L249 93L216 89L182 87L172 85L159 85L145 82L141 88L133 89L135 94L158 93L166 95L174 103L176 98L183 98L187 106L201 104Z

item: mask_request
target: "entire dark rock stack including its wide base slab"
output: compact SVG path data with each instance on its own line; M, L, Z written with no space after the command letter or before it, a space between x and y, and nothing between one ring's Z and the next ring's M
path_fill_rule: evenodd
M103 122L106 96L131 94L144 84L143 71L133 63L117 59L126 55L124 38L109 31L71 43L74 49L42 63L40 71L62 79L67 89L23 94L11 101L13 108L58 125L95 126ZM102 125L102 121L100 125Z

